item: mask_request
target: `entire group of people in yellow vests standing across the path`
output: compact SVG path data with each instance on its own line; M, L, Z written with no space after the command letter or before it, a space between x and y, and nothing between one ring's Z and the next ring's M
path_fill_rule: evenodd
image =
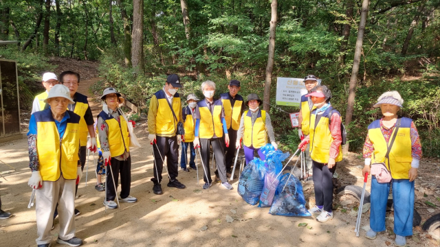
M77 92L79 83L80 75L74 71L61 73L59 82L54 73L45 73L43 86L46 91L35 97L32 107L28 132L32 176L28 185L36 189L36 243L41 247L50 246L50 230L54 227L56 215L60 223L56 241L69 246L83 244L75 236L74 215L80 211L74 207L74 198L83 174L87 148L96 152L99 146L104 163L109 165L103 202L106 208L117 208L115 199L118 202L137 201L130 196L129 148L135 137L134 124L119 108L124 99L115 89L104 89L102 111L94 128L87 97ZM179 145L182 145L180 160L184 172L197 169L194 159L196 151L200 150L205 182L203 189L212 185L210 147L217 164L215 174L225 189L233 189L228 176L231 175L235 152L242 147L242 139L246 163L254 158L255 152L262 160L265 159L260 148L267 143L267 136L274 148L278 148L270 115L259 108L263 101L254 93L244 101L238 94L240 84L238 80L231 80L229 92L214 99L216 84L207 80L201 84L204 99L190 94L186 98L188 106L182 108L177 93L181 88L179 76L168 75L164 87L151 97L148 108L148 139L153 145L154 156L151 178L154 193L163 193L161 182L165 157L169 178L167 186L177 189L186 187L177 180ZM331 91L327 86L318 85L316 76L307 75L305 86L308 94L301 97L298 134L302 141L298 148L307 154L307 174L313 174L316 206L310 211L318 215L318 221L327 222L333 218L331 178L336 171L336 163L342 161L342 119L338 110L330 104ZM403 99L397 91L384 93L375 104L375 107L381 108L384 117L369 126L364 145L366 166L363 171L364 174L370 172L369 165L373 159L375 163L385 162L393 177L391 181L381 183L373 176L371 230L366 237L373 239L377 232L384 231L386 198L393 184L395 214L399 216L395 220L396 244L399 246L405 242L405 236L412 235L414 180L421 158L419 136L412 120L397 117L401 104ZM248 110L245 110L247 106ZM87 134L90 135L88 140ZM116 198L119 176L121 193Z

